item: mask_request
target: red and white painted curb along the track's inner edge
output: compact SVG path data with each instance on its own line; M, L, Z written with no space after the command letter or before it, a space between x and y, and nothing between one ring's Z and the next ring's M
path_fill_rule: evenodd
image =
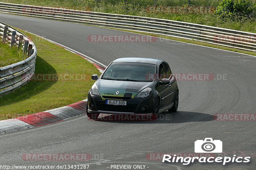
M36 35L36 36L38 36L38 35ZM38 37L41 37L41 36L38 36ZM75 53L75 54L83 57L84 59L86 59L90 63L92 63L95 67L97 67L97 69L101 73L103 73L103 71L107 67L106 65L88 57L87 55L79 53L71 48L63 46L57 42L48 40L44 37L41 37L41 38L43 38L47 41L50 41L60 47L63 47L65 49L71 51L72 53ZM70 104L70 105L67 105L64 107L46 110L44 112L39 112L39 113L31 114L31 115L16 117L13 119L2 120L2 121L0 121L0 134L12 132L12 131L16 131L16 130L21 130L21 129L33 128L36 126L42 126L42 125L66 120L66 119L69 119L72 117L84 115L86 113L86 105L87 105L87 99L78 101L76 103L73 103L73 104Z

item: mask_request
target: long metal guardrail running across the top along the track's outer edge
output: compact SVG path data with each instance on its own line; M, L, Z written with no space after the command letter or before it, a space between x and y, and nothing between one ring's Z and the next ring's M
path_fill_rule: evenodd
M168 35L256 52L256 33L167 19L0 3L0 12Z

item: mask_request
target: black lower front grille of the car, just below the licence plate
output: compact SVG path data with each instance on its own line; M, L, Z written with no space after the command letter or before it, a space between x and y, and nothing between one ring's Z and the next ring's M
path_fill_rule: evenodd
M131 112L134 113L137 104L128 104L126 106L121 106L121 105L107 105L105 102L102 101L96 101L96 107L98 110L102 111L109 111L109 112Z

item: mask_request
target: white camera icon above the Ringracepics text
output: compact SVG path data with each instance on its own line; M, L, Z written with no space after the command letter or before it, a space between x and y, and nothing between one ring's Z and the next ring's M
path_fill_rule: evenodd
M195 153L221 153L222 141L205 138L195 141Z

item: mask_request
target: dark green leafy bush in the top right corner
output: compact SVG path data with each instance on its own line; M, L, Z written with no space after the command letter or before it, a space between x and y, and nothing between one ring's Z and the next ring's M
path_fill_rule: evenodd
M252 1L223 0L217 6L215 13L222 19L255 19L256 8Z

